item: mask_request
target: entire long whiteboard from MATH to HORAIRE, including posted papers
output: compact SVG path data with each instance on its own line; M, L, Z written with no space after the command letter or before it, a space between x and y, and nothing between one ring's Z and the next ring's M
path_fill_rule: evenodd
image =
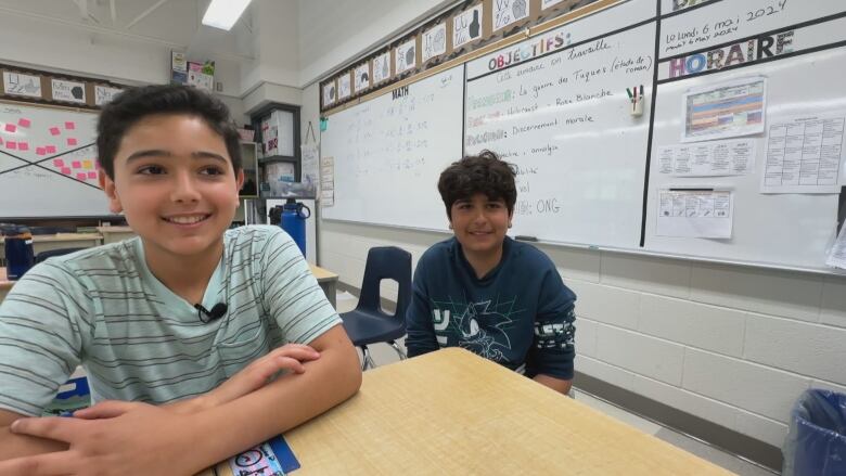
M343 171L357 169L347 153L335 186L368 195L352 211L338 193L324 216L443 230L437 173L490 149L517 167L513 234L835 272L823 265L846 183L846 3L628 0L538 31L466 63L461 104L445 95L409 116L450 123L419 151L425 170L369 180ZM330 124L381 143L374 112L392 101ZM446 133L456 114L460 152ZM343 155L352 132L324 136L323 155ZM383 183L414 198L374 205Z

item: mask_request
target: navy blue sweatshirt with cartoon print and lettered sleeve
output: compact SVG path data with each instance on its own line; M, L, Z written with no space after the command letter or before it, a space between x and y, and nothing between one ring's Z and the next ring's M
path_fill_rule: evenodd
M529 377L569 379L575 300L536 247L505 236L499 265L478 279L451 237L418 262L406 347L409 357L463 347Z

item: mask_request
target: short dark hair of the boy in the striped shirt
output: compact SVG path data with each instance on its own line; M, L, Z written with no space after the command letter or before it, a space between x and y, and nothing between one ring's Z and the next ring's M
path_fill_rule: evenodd
M97 149L100 166L110 178L115 178L115 154L126 132L139 120L155 114L202 118L223 139L235 173L241 170L241 142L229 107L191 86L156 85L127 89L103 106L97 123Z

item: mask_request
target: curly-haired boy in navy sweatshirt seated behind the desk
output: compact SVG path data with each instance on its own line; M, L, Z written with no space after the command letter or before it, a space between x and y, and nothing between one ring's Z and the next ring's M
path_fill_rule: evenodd
M440 175L454 236L418 262L406 346L409 357L463 347L567 394L576 295L547 255L505 235L517 200L514 175L490 151Z

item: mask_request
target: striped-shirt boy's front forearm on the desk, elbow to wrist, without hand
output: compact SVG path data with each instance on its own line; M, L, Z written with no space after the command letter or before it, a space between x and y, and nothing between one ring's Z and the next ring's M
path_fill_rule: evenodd
M203 465L215 464L341 403L361 384L358 355L349 344L321 350L320 359L306 366L303 374L287 374L233 401L187 415L192 436L185 448Z

